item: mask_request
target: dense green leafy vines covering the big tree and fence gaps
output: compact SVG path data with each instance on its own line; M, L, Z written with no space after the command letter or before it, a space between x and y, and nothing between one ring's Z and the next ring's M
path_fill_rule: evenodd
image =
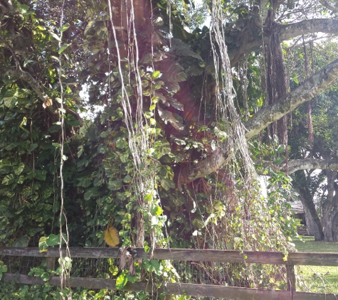
M188 28L200 26L205 16L191 12L190 1L136 2L131 23L119 19L118 9L112 14L110 1L1 4L1 245L45 251L59 244L62 231L70 247L97 247L105 245L104 231L113 227L120 247L147 252L155 247L292 250L295 223L285 203L290 178L278 169L285 145L273 135L275 129L248 142L247 161L253 159L255 168L270 176L266 197L236 143L229 144L229 159L216 172L189 180L189 170L234 139L236 122L267 104L263 71L270 63L260 53L260 41L263 30L266 36L271 32L258 18L268 11L267 23L273 24L274 14L282 18L297 9L290 1L278 9L269 1L265 8L255 1L221 4L237 92L235 122L230 105L224 105L230 96L216 61L222 49L215 33L206 26ZM203 7L213 9L208 1ZM119 20L122 30L114 25ZM243 48L248 41L253 46ZM294 85L300 81L295 72L290 75ZM329 114L323 109L314 126L332 147L334 130L327 130ZM295 119L301 124L301 117ZM304 149L296 147L292 144L290 157ZM263 161L271 163L267 167ZM136 264L134 274L110 267L107 277L117 278L120 288L148 276L158 283L178 280L169 262L154 259ZM227 284L275 287L282 282L278 269L226 267L222 280ZM49 277L44 266L32 274ZM16 291L15 285L1 285L1 293L13 299L38 293L39 299L56 299L60 292L50 286ZM90 293L73 291L73 299L105 295Z

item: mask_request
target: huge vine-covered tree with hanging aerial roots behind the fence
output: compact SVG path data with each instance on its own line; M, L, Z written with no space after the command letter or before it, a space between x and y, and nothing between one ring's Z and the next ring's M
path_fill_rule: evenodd
M262 200L251 156L258 134L338 77L333 60L287 93L282 41L338 21L315 1L206 4L210 28L187 28L166 0L1 4L2 242L36 245L68 224L71 245L100 245L114 226L125 247L290 249L288 180L275 173Z

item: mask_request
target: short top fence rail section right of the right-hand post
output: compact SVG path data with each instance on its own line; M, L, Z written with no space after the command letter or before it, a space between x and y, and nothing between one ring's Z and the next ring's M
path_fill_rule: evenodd
M306 266L338 266L338 253L291 252L289 264Z

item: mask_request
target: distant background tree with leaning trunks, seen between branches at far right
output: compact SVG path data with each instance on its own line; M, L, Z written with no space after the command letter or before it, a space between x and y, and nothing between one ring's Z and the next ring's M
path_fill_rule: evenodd
M325 64L325 58L335 53L337 45L332 41L316 41L313 36L309 37L310 41L303 41L295 46L294 55L289 63L290 72L297 70L297 78L294 85L299 85L306 77L306 73L314 73L316 69ZM296 50L297 48L297 50ZM305 62L305 63L300 63ZM298 81L299 80L299 81ZM333 241L335 229L332 230L335 215L334 203L334 173L329 170L323 170L320 173L314 173L314 170L307 170L307 161L315 164L322 159L324 164L333 164L332 170L337 170L334 164L336 158L335 143L335 119L337 111L335 109L337 96L336 85L332 86L327 92L322 93L312 100L312 103L301 105L292 113L292 130L290 132L290 156L291 160L289 171L294 173L297 166L303 164L305 171L297 171L293 186L297 188L300 194L305 215L309 221L309 230L315 235L315 240ZM310 109L309 109L310 108ZM319 167L322 168L322 167ZM333 176L333 178L332 178ZM327 181L327 183L325 183ZM328 195L324 195L326 191ZM330 192L329 192L330 191ZM322 194L323 193L323 194ZM315 199L321 198L319 204L321 214L317 214ZM324 209L325 207L325 209ZM319 220L320 217L320 220ZM324 228L324 232L323 232Z

